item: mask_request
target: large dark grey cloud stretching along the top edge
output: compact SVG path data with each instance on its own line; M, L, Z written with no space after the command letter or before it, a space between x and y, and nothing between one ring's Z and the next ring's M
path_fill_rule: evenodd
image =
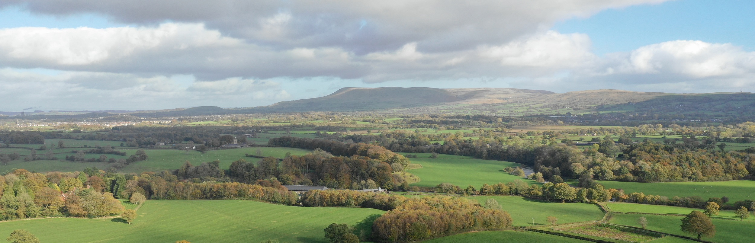
M206 23L276 49L338 47L366 54L411 42L426 52L498 45L572 17L667 0L153 1L6 0L35 14L103 14L121 23Z

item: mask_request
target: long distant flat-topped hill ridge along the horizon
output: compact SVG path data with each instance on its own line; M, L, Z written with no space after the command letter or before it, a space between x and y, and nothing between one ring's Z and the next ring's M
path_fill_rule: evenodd
M304 100L291 100L274 103L270 106L222 109L217 106L197 106L188 109L162 109L138 111L97 111L87 114L71 112L72 117L102 116L121 113L139 116L163 117L178 115L223 115L233 113L270 112L355 112L384 111L388 109L417 109L421 112L468 112L464 107L476 107L501 114L556 114L565 112L559 109L592 110L632 110L669 109L664 106L689 106L686 109L704 109L707 106L741 106L744 109L755 107L753 93L709 93L673 94L660 92L621 91L612 89L572 91L556 94L551 91L519 88L341 88L324 97ZM638 104L639 103L639 104ZM750 104L751 103L751 104ZM629 104L630 106L627 106ZM631 105L636 104L636 105ZM692 107L693 104L696 107ZM600 107L599 107L600 106ZM464 110L462 110L464 109ZM528 112L521 112L522 109ZM577 109L577 110L578 110ZM520 110L517 113L517 110ZM8 112L4 115L16 115ZM63 113L63 114L61 114ZM82 112L83 113L83 112ZM0 113L2 114L2 113ZM64 112L43 112L34 116L60 116Z

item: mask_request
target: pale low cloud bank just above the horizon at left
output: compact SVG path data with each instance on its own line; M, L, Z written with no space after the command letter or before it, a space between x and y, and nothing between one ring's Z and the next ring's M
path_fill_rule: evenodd
M117 81L114 85L100 85ZM0 110L21 106L41 109L172 109L192 106L248 107L290 97L277 82L244 78L193 81L175 77L139 76L108 72L60 72L48 75L34 69L0 69Z

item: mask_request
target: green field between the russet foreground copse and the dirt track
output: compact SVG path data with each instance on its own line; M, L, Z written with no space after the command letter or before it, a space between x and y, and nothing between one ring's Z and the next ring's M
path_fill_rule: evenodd
M598 206L586 203L560 203L504 195L473 196L470 199L484 205L488 198L495 198L501 208L511 214L515 226L532 226L533 217L535 225L546 225L548 216L559 218L558 223L572 223L600 220L604 215Z

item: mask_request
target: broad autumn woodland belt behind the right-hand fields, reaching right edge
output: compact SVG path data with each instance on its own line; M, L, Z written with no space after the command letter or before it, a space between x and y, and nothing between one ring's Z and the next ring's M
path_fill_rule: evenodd
M336 138L337 139L337 138ZM532 165L545 179L554 175L579 178L589 174L599 180L636 182L738 180L753 177L755 155L747 151L726 152L710 138L685 137L681 143L636 143L612 137L598 139L587 149L572 140L480 137L450 134L442 145L405 131L387 131L379 136L352 134L343 139L376 143L394 152L436 152L483 159L515 161Z

